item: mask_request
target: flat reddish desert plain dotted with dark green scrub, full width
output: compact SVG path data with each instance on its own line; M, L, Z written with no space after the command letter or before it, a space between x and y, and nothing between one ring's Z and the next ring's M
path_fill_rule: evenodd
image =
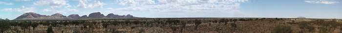
M199 33L199 31L213 33L333 33L336 30L342 30L340 28L342 26L340 20L311 19L310 21L302 21L301 19L291 20L287 18L278 18L279 20L277 18L253 19L167 18L40 21L0 19L0 31L1 33ZM50 32L50 30L54 32Z

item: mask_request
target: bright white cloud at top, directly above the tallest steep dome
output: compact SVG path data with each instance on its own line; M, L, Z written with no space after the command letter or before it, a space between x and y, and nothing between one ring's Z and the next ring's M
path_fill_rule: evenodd
M77 5L78 8L103 8L103 5L106 5L106 3L100 2L100 1L94 1L94 3L88 3L88 0L79 0L80 3ZM91 0L90 0L91 1Z

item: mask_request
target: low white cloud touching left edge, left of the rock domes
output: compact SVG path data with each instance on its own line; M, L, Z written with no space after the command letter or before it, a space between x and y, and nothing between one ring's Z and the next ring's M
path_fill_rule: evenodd
M4 8L2 11L8 11L8 12L33 12L36 8L34 7L27 7L21 6L22 8Z

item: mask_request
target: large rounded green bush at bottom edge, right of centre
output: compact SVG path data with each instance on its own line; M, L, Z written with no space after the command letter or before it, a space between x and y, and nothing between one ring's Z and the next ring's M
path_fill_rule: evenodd
M292 31L290 26L278 25L273 29L272 33L292 33Z

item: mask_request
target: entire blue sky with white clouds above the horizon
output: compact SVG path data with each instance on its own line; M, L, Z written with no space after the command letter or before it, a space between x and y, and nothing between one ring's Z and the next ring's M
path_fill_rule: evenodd
M340 18L342 0L0 0L0 18L101 12L137 17Z

